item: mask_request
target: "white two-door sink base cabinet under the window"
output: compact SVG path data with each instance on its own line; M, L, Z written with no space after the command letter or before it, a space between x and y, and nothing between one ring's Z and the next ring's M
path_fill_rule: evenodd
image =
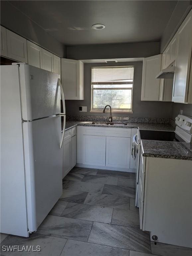
M77 126L78 167L128 171L130 152L131 129Z

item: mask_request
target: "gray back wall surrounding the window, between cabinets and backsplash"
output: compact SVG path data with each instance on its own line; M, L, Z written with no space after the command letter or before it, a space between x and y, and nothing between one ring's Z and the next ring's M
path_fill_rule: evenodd
M88 63L84 65L84 100L66 100L67 115L109 115L103 113L90 113L91 109L91 67L92 66L112 66L104 63ZM130 117L170 117L172 102L141 101L142 86L142 62L114 63L113 65L133 65L134 86L133 86L133 114ZM87 112L79 112L79 106L87 106ZM128 116L128 114L114 113L113 116Z

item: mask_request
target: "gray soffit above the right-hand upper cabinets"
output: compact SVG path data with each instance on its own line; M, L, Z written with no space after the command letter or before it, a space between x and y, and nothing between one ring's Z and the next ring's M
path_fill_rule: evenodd
M176 33L177 29L185 19L186 15L192 8L192 1L178 1L170 20L161 37L160 52L162 53L167 47L169 41Z

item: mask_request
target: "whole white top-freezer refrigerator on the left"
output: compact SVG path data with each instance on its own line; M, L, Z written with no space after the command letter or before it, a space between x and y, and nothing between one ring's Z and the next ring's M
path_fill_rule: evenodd
M64 96L58 74L23 63L0 68L0 232L28 237L62 194Z

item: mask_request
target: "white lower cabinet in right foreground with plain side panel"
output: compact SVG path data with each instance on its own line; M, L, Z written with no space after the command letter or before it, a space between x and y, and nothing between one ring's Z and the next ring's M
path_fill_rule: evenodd
M151 241L156 235L159 243L191 248L192 161L140 159L140 228L150 232Z

